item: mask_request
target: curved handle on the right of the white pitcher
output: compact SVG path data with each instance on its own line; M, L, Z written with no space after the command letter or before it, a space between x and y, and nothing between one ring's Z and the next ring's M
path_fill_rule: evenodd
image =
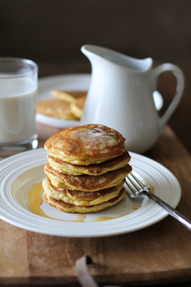
M175 75L177 84L176 84L176 93L170 105L168 106L164 114L159 118L159 129L160 129L161 134L163 133L164 125L167 123L167 121L169 120L173 112L175 111L176 107L178 106L178 103L182 97L183 90L184 90L183 72L176 65L173 65L170 63L159 65L153 69L153 76L154 76L153 82L156 83L158 76L166 71L170 71Z

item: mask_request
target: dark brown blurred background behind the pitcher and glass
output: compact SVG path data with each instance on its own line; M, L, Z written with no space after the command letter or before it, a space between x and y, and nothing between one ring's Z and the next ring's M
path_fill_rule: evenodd
M0 57L35 61L39 77L90 73L84 44L131 57L152 57L154 66L178 65L186 77L183 98L169 123L191 152L191 1L189 0L0 0ZM169 84L170 83L170 84ZM175 93L170 73L158 80L164 108Z

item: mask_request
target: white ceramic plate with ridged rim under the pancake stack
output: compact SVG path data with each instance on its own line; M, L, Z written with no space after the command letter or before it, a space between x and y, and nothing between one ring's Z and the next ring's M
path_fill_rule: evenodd
M20 228L55 236L98 237L139 230L168 215L162 207L146 196L135 200L126 198L98 213L85 214L84 222L71 222L79 215L65 213L51 207L45 201L40 208L50 218L34 214L27 206L26 194L33 184L45 178L46 162L44 148L22 152L0 162L1 219ZM172 207L178 205L181 188L167 168L133 152L130 164L134 172L155 187L157 196ZM110 220L94 221L105 216L110 217ZM117 218L112 219L113 217Z

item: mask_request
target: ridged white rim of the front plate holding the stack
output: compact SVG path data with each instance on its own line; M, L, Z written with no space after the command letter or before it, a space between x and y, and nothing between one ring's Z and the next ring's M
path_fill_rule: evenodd
M172 207L176 207L181 198L181 187L176 177L163 165L143 155L139 155L130 152L131 164L134 166L135 172L141 173L141 176L146 180L153 180L152 176L157 178L157 174L161 172L161 175L166 177L167 184L163 184L164 192L160 196L164 201L167 201ZM58 220L44 218L36 214L30 213L24 208L19 207L16 202L10 198L10 184L7 183L6 175L7 171L13 170L20 164L19 174L24 168L38 167L46 162L46 152L44 148L36 150L30 150L21 152L0 161L0 218L10 224L16 225L17 227L24 228L26 230L44 233L54 236L67 236L67 237L102 237L102 236L113 236L124 233L133 232L146 228L150 225L159 222L165 218L168 213L153 201L149 201L146 207L140 208L134 213L127 216L122 216L117 219L101 222L59 222ZM138 163L140 167L136 166ZM145 166L150 166L150 173L147 172ZM8 175L7 175L8 176ZM14 179L14 178L13 178ZM156 179L154 179L156 180ZM157 179L160 181L160 178ZM8 187L5 188L6 184ZM167 190L171 190L167 195ZM160 194L160 189L157 190L156 194ZM5 199L6 198L6 199ZM14 207L10 210L7 209L6 203ZM149 206L149 208L148 208ZM26 220L24 220L26 219Z

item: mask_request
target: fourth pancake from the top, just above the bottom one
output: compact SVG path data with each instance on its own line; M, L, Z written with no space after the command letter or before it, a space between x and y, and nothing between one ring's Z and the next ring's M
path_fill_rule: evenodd
M94 192L83 192L78 190L67 190L54 187L48 176L43 180L42 186L46 194L54 199L62 200L76 206L90 206L103 203L118 195L125 180L118 186L102 189Z

